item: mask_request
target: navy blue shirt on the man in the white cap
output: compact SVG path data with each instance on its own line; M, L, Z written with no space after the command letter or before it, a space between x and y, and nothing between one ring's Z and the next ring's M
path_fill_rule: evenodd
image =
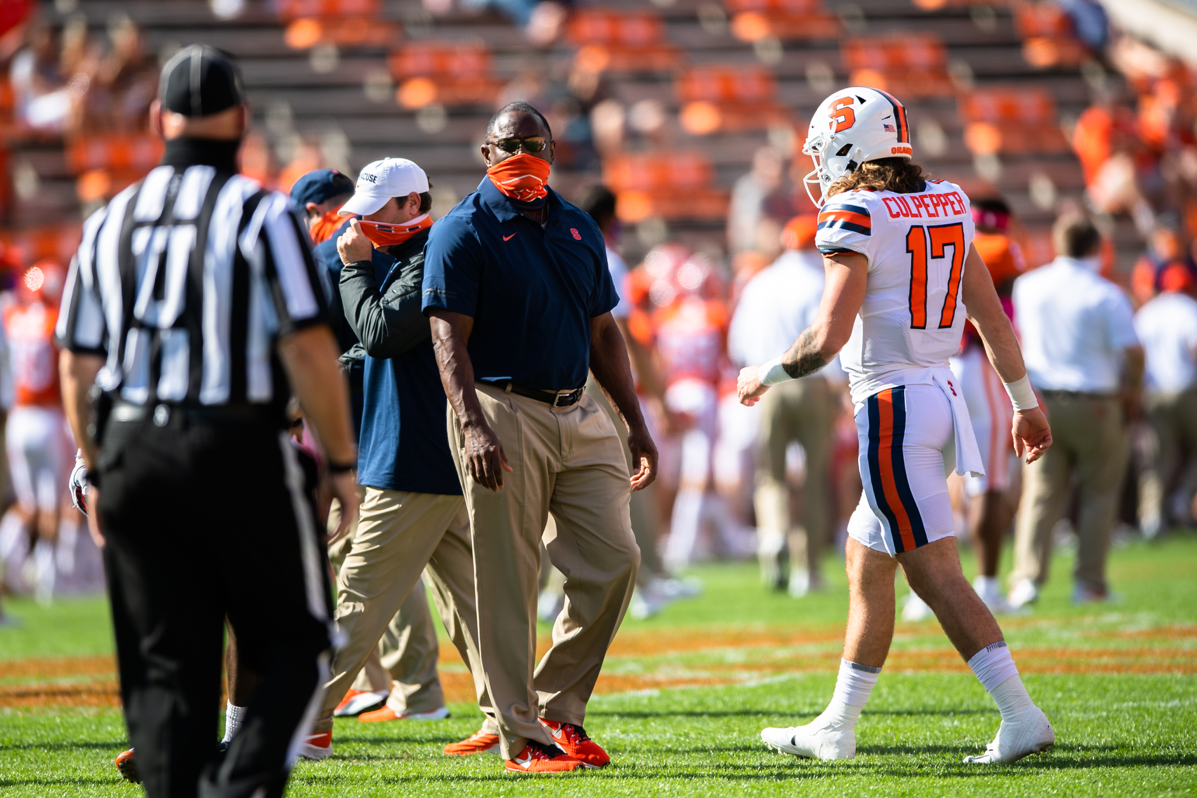
M379 284L385 293L413 255L424 249L424 234L397 251L396 267ZM381 360L365 358L361 433L358 440L358 483L387 491L461 495L461 481L449 453L445 392L440 385L432 340Z

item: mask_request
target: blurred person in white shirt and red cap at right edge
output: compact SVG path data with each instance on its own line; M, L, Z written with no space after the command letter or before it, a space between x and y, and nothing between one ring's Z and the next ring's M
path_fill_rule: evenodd
M1161 275L1162 293L1138 309L1135 331L1147 354L1147 420L1152 430L1150 457L1140 479L1138 523L1143 535L1157 537L1169 519L1192 522L1197 492L1197 300L1187 296L1192 276L1181 267ZM1168 487L1180 465L1172 506Z

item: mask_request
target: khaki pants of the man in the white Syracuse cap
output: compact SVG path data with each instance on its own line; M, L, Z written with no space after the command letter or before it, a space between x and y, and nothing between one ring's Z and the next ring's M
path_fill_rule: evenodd
M425 565L440 617L474 676L479 706L491 714L476 644L466 502L455 495L367 487L353 544L336 578L336 623L344 647L333 657L333 678L314 732L333 729L333 709L376 651ZM484 729L493 732L490 726Z

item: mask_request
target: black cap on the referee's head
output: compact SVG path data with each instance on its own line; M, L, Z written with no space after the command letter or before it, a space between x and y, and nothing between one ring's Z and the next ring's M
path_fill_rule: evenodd
M169 111L209 116L244 102L245 92L227 54L208 44L189 44L162 68L158 98Z

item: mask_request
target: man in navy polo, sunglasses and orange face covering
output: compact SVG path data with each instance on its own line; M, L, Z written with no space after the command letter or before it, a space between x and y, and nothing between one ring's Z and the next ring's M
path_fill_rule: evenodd
M433 225L424 264L469 508L482 669L508 769L602 767L608 756L582 724L640 561L630 491L652 481L657 450L610 315L619 297L602 233L547 185L548 122L527 103L504 106L482 158L487 177ZM610 416L583 394L588 367L627 425L631 480ZM566 603L534 677L548 513Z

